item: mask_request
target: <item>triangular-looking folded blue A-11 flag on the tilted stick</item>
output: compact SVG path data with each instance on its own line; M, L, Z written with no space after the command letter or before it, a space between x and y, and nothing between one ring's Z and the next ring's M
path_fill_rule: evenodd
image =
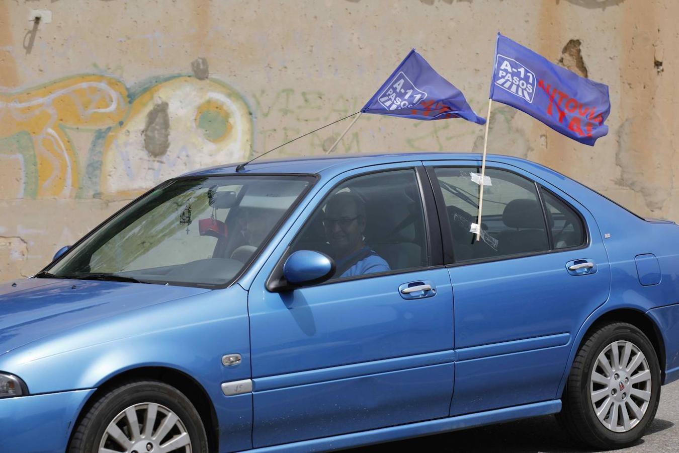
M414 49L361 111L414 120L460 117L477 124L485 123L485 119L469 107L464 94L434 71Z

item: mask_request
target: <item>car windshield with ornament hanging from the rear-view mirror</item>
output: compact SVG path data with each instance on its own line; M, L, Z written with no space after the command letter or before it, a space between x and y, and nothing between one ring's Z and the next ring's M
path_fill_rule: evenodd
M227 285L312 181L293 175L168 181L37 276Z

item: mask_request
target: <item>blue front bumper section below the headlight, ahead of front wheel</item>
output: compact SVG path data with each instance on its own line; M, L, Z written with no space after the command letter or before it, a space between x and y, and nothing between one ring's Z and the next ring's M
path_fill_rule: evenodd
M94 390L0 399L0 452L64 453L75 419Z

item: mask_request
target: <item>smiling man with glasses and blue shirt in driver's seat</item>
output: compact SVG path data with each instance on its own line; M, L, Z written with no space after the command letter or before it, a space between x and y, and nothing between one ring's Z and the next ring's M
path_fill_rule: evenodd
M337 265L335 276L390 270L387 262L363 242L365 224L365 203L358 195L339 192L328 200L323 226Z

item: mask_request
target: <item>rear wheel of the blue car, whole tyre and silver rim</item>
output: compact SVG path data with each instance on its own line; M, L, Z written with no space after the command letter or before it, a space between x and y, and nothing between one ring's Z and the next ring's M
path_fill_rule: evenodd
M660 379L655 349L640 329L604 325L575 357L559 419L581 443L601 449L629 446L655 418Z

